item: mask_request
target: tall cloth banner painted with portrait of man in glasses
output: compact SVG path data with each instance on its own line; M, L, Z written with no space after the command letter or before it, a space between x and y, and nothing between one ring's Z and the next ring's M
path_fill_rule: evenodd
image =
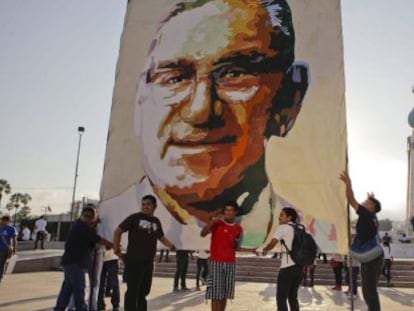
M101 187L104 235L157 198L178 249L241 206L260 246L295 207L325 252L347 249L340 0L131 0ZM126 246L126 240L123 241Z

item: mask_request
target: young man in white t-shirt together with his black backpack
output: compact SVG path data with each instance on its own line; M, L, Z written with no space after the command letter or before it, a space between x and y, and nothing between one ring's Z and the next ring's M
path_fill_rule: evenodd
M270 243L262 251L263 255L266 255L279 241L283 245L276 289L278 311L288 311L287 302L289 302L290 311L299 311L298 290L303 278L303 267L312 259L312 255L307 255L307 252L300 254L300 249L308 249L308 244L314 244L310 246L311 249L315 248L312 251L314 252L312 262L316 256L316 244L312 238L309 238L310 235L304 231L304 228L296 224L297 218L298 214L294 208L284 207L279 215L279 227ZM294 247L295 238L296 246ZM311 239L310 242L307 241L308 239ZM302 243L302 247L298 247L299 243ZM297 262L292 257L296 258Z

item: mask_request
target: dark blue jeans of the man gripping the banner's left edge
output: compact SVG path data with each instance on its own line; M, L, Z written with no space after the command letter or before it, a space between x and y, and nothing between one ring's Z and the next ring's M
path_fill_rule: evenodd
M79 311L87 311L85 303L85 269L71 264L63 266L64 280L54 311L65 311L73 294L75 308Z

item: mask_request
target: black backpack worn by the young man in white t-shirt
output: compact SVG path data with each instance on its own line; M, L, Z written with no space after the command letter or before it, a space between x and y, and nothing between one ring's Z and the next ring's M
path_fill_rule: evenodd
M301 224L289 225L292 226L294 230L292 249L290 250L283 240L281 240L282 245L286 248L287 253L295 264L299 266L313 265L316 253L318 252L318 246L316 245L315 240L306 232L305 226Z

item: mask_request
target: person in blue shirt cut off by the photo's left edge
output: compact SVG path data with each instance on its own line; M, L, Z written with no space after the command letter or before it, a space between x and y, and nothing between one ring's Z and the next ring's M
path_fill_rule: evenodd
M12 255L16 254L17 234L16 230L9 224L10 216L3 216L0 220L0 282L8 258L8 249L12 247Z

